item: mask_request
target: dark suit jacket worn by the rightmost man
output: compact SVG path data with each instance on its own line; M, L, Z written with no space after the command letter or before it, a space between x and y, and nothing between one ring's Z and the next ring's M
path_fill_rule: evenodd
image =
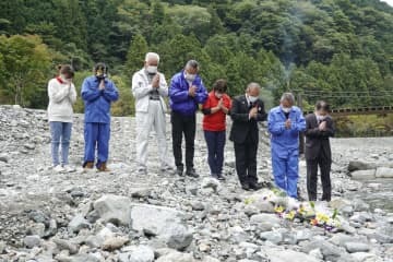
M332 159L332 152L330 147L329 138L334 136L333 119L327 116L323 121L326 121L326 130L320 131L315 114L306 116L306 159L315 159L321 153L326 160Z

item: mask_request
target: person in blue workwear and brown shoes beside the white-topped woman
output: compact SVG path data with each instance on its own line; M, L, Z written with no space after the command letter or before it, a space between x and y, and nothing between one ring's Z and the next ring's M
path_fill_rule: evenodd
M119 93L114 82L107 79L105 63L94 67L94 75L83 81L81 93L85 105L83 167L94 167L97 147L96 167L99 171L108 171L106 164L109 152L110 105L119 98Z

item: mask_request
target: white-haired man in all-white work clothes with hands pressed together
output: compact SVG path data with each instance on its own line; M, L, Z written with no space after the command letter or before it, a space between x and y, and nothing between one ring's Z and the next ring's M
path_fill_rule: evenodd
M163 73L157 71L159 56L147 52L144 67L132 76L132 94L135 97L136 118L136 162L138 170L147 174L147 143L152 129L158 143L160 171L174 171L167 157L166 117L164 98L168 96L168 85Z

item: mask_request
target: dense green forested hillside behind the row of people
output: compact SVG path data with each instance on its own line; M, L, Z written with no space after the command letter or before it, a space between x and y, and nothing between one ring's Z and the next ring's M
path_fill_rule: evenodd
M80 86L105 61L122 97L114 110L132 114L147 50L168 81L194 58L207 86L224 78L237 95L255 81L269 106L287 90L306 105L393 100L393 8L379 0L0 1L0 103L45 108L57 63L72 63Z

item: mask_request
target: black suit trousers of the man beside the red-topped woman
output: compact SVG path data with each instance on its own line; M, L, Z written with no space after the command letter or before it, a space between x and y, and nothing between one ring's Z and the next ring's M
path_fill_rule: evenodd
M257 178L258 142L246 140L245 143L234 143L236 171L241 184L253 184Z

